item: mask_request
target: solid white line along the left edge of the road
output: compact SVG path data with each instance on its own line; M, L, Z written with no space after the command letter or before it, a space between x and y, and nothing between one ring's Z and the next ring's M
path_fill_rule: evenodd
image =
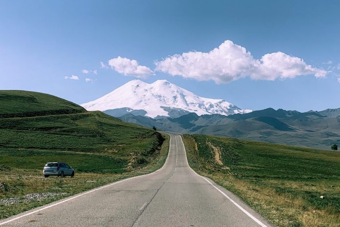
M80 195L71 197L71 198L69 198L69 199L60 201L60 202L58 202L58 203L56 203L56 204L51 204L51 205L45 206L45 207L40 208L40 209L38 209L38 210L29 212L29 213L27 213L27 214L23 214L23 215L21 215L21 216L19 216L19 217L9 219L9 220L7 220L7 221L5 221L5 222L1 222L1 223L0 223L0 226L1 226L1 225L4 225L4 224L7 224L7 223L10 223L10 222L13 222L13 221L15 221L15 220L18 220L18 219L20 219L20 218L26 217L26 216L28 216L28 215L38 213L39 211L42 211L42 210L51 208L51 207L53 207L53 206L56 206L56 205L59 205L59 204L63 204L63 203L65 203L65 202L67 202L67 201L74 200L74 199L76 199L76 198L78 198L78 197L84 196L84 195L89 194L89 193L91 193L91 192L95 192L95 191L101 190L101 189L103 189L103 188L112 186L112 185L114 185L114 184L121 183L121 182L125 182L125 181L132 180L132 179L135 179L135 178L144 177L144 176L148 176L148 175L154 174L154 173L160 171L161 169L163 169L164 166L165 166L165 165L167 164L167 162L168 162L169 155L170 155L170 141L171 141L171 136L170 136L170 140L169 140L169 152L168 152L168 156L167 156L167 159L165 160L164 165L162 166L162 168L160 168L160 169L158 169L158 170L156 170L156 171L154 171L154 172L152 172L152 173L149 173L149 174L140 175L140 176L136 176L136 177L132 177L132 178L127 178L127 179L125 179L125 180L121 180L121 181L118 181L118 182L110 183L110 184L107 184L107 185L105 185L105 186L102 186L102 187L99 187L99 188L96 188L96 189L87 191L87 192L85 192L85 193L82 193L82 194L80 194Z

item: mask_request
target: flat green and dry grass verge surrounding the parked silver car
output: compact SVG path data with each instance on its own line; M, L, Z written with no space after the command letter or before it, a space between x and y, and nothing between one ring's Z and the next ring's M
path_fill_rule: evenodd
M127 160L117 159L112 154L88 154L88 152L37 151L29 149L0 148L0 200L25 198L32 193L55 193L43 200L15 204L0 203L0 219L10 217L32 208L90 190L125 178L151 173L164 164L169 152L170 136L159 149L148 157L148 162L128 165ZM65 161L76 170L74 178L42 175L47 161Z

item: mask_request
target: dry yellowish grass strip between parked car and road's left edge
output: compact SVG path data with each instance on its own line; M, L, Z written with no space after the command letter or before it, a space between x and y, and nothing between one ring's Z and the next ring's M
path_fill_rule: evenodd
M161 150L147 165L135 168L129 166L129 171L123 173L76 172L74 178L44 178L42 169L26 170L17 167L1 168L0 182L5 183L6 187L0 187L0 200L13 197L22 198L31 193L54 192L66 194L54 198L46 198L42 201L30 201L19 204L0 204L0 219L95 187L133 176L147 174L159 169L164 164L169 152L170 137L168 135L164 136L166 140L163 142ZM24 166L25 163L23 163L22 167Z

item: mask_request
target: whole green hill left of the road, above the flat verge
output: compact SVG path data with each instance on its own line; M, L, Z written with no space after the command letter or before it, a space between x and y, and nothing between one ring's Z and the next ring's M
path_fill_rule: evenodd
M153 130L103 114L49 94L0 91L0 147L148 154L159 145Z

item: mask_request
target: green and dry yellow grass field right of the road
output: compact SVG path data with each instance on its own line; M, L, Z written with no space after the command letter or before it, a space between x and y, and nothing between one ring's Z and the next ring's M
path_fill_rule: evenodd
M197 173L276 226L340 226L339 152L203 135L185 135L184 143Z

